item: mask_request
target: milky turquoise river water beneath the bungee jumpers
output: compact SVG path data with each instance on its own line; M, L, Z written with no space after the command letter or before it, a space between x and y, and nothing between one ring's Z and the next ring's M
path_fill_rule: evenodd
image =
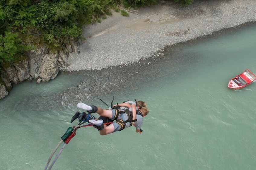
M109 105L113 96L114 103L147 102L142 134L80 128L52 169L255 169L256 84L227 88L245 69L256 73L255 37L256 25L244 25L133 65L15 85L0 101L0 169L43 169L66 129L77 125L70 123L82 112L76 104L106 108L97 97Z

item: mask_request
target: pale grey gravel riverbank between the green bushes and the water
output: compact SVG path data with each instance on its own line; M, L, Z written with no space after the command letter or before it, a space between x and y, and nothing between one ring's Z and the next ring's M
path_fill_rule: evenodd
M141 8L138 15L113 12L101 23L84 28L79 54L68 60L67 71L100 70L133 63L215 31L256 21L256 0L194 1L185 8L172 1Z

